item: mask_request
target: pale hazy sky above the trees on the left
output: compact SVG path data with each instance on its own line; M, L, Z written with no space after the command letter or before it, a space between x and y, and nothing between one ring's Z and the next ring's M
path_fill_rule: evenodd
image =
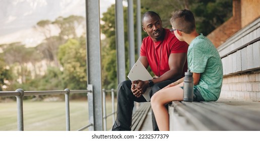
M115 0L100 0L100 14ZM83 0L0 0L0 44L21 41L35 46L42 40L32 29L41 20L77 15L86 17Z

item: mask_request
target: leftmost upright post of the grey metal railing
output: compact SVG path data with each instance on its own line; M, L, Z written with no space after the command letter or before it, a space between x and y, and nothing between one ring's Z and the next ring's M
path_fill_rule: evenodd
M24 114L23 114L24 90L17 89L16 92L20 92L20 95L16 96L16 103L17 103L17 129L19 131L23 131L24 130Z

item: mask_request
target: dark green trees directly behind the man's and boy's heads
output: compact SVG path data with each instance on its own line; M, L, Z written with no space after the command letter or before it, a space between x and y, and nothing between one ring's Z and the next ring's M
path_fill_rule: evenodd
M230 0L168 0L141 1L143 9L157 12L165 28L171 28L169 19L171 13L178 9L190 9L196 20L199 33L207 36L232 16L232 1Z

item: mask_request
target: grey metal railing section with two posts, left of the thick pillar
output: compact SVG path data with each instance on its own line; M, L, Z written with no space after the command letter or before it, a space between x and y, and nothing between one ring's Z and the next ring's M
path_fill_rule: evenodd
M61 91L23 91L22 89L17 89L16 91L1 91L0 96L16 96L17 99L17 128L20 131L24 130L24 120L23 120L23 97L31 95L52 95L52 94L65 94L66 103L66 130L70 130L70 100L69 94L79 94L79 93L92 93L91 90L70 90L65 89ZM93 126L93 123L83 127ZM82 129L82 128L81 128Z

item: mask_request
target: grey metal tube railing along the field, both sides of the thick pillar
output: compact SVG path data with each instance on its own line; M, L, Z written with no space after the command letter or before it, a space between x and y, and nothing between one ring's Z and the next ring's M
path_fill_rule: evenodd
M24 130L24 119L23 119L23 97L24 96L32 96L32 95L54 95L54 94L64 94L65 95L65 104L66 104L66 130L70 131L70 94L81 94L81 93L87 93L88 97L88 104L89 104L89 117L94 116L94 110L93 110L93 93L92 93L92 85L88 86L89 90L60 90L60 91L24 91L22 89L17 89L16 91L2 91L0 92L1 96L15 96L17 101L17 129L19 131ZM107 117L112 116L112 123L115 121L115 109L114 109L114 92L116 90L105 90L103 89L103 130L107 129ZM106 92L111 92L111 100L112 100L112 112L108 115L106 115ZM94 118L95 119L95 118ZM90 123L84 127L81 127L78 129L78 131L85 130L86 128L89 128L94 125L94 121L89 121ZM89 128L89 130L93 130L93 128Z

